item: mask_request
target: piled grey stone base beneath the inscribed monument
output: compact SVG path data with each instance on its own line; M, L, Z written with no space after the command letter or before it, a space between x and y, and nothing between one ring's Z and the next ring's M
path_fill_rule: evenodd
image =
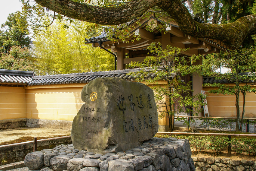
M156 138L117 153L88 152L73 144L29 153L25 165L36 171L195 171L188 140Z

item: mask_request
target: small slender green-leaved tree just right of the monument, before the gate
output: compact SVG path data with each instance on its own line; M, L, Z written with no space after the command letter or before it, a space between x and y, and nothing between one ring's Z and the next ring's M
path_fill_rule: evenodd
M201 74L201 66L192 65L200 56L181 56L179 54L186 49L170 45L163 49L161 44L156 43L149 45L148 50L149 56L143 62L132 62L130 67L142 68L139 72L142 76L137 77L137 80L156 85L152 89L159 117L169 117L169 128L172 130L175 114L185 112L198 115L202 111L200 105L203 104L203 96L192 96L191 82L184 83L181 80L182 76ZM144 79L144 76L150 79ZM179 104L178 107L175 103Z

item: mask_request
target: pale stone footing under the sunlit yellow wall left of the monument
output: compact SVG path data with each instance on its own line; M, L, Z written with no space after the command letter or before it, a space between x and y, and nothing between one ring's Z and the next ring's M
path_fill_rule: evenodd
M35 128L51 128L71 130L73 121L27 119L26 125Z

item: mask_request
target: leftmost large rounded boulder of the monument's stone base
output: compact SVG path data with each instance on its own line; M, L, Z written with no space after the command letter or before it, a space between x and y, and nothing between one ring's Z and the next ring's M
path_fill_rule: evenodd
M44 153L36 151L25 156L24 164L30 170L38 170L44 166Z

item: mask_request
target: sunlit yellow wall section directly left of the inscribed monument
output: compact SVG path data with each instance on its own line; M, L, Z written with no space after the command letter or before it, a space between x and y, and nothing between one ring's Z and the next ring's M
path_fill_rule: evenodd
M85 83L28 86L27 118L73 121L84 102Z

